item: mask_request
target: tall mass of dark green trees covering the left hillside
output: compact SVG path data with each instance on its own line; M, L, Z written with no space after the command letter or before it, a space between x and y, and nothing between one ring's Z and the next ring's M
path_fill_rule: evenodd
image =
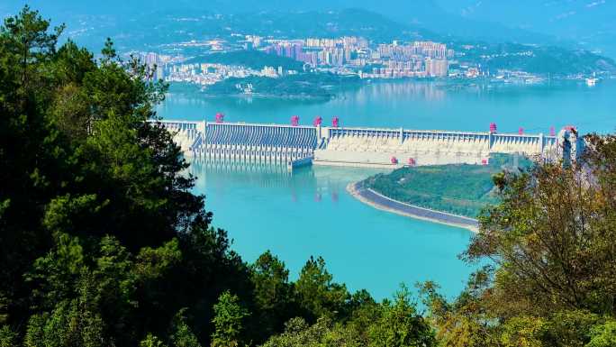
M0 29L0 323L22 335L32 317L69 322L88 281L88 310L113 322L101 326L116 345L164 336L185 306L209 325L222 289L249 279L190 192L180 149L150 122L167 86L111 41L99 60L72 41L58 49L61 30L27 6Z

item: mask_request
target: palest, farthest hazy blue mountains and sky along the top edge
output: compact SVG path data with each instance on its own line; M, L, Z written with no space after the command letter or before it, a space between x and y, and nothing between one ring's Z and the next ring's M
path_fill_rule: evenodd
M5 8L16 11L26 1L5 0L3 3ZM157 14L173 12L240 15L326 13L361 8L403 25L449 37L568 47L577 44L589 50L616 50L613 44L616 41L616 21L613 20L616 0L30 0L27 3L69 24L84 23L75 19L93 15L113 16L122 22L139 15L158 19ZM370 20L368 25L372 24Z

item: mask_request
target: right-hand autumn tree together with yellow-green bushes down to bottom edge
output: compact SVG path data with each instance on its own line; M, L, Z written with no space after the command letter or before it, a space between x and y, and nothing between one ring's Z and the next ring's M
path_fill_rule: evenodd
M464 257L488 259L453 302L422 286L446 346L607 346L616 338L616 136L582 160L494 177Z

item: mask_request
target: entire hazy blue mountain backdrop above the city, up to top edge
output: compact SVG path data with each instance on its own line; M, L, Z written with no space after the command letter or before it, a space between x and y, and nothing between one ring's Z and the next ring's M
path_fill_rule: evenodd
M23 0L6 1L0 11L15 13L23 5ZM32 0L30 3L54 23L67 23L67 36L91 50L99 50L108 36L119 50L126 51L159 50L168 43L213 37L235 40L231 38L233 33L288 39L358 35L374 41L444 41L458 50L470 43L476 50L468 53L476 54L475 61L482 61L484 66L561 74L613 71L613 60L580 47L616 50L616 44L608 44L616 32L612 28L616 23L609 20L616 0L313 0L303 3ZM602 11L595 11L597 8ZM596 23L592 23L593 19ZM577 32L575 28L581 29ZM512 54L499 54L503 48ZM516 55L524 51L532 54ZM494 59L489 58L493 56Z

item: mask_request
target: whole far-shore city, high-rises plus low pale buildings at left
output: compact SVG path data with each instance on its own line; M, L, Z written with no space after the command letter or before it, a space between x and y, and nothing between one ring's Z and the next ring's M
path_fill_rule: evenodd
M244 50L261 50L302 61L305 71L353 74L359 78L477 78L482 74L479 68L464 68L458 64L454 50L434 41L373 43L358 36L279 40L244 35L239 42ZM141 61L154 68L154 78L200 86L213 85L226 78L279 78L296 73L283 71L281 67L257 69L217 63L186 63L182 55L153 52L139 55Z

